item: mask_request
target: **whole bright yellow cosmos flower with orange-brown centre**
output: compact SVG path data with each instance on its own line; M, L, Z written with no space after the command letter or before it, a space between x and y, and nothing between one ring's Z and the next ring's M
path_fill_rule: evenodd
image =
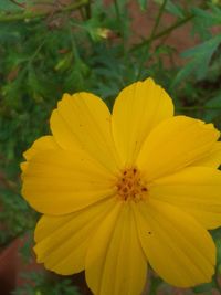
M52 136L24 154L22 194L44 215L38 262L85 270L96 295L139 295L147 268L175 286L210 282L221 225L220 133L173 116L152 80L123 89L110 114L90 93L64 94Z

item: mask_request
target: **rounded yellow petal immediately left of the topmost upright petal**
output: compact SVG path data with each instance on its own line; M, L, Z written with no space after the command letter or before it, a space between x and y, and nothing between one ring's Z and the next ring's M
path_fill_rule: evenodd
M63 149L84 149L106 168L116 170L110 113L101 98L90 93L64 94L50 123L53 136Z

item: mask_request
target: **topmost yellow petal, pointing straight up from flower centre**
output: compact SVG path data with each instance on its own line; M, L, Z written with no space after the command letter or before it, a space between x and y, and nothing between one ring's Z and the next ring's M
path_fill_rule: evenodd
M124 88L113 109L113 135L124 165L130 165L160 122L173 115L169 95L151 78Z

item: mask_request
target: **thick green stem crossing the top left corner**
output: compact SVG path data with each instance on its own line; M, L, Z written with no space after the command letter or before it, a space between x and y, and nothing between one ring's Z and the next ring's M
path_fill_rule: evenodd
M63 13L72 10L77 10L83 6L86 6L88 3L88 0L81 0L78 2L75 2L70 6L62 7L54 11L54 14L56 13ZM13 13L13 14L3 14L0 15L0 22L11 22L11 21L24 21L24 20L31 20L35 18L45 18L50 14L49 11L35 11L35 12L22 12L22 13Z

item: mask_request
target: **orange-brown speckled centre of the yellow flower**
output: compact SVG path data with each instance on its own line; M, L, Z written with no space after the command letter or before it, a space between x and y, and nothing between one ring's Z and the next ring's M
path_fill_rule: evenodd
M117 181L118 197L123 201L133 200L139 202L147 196L146 182L141 179L137 168L124 169Z

